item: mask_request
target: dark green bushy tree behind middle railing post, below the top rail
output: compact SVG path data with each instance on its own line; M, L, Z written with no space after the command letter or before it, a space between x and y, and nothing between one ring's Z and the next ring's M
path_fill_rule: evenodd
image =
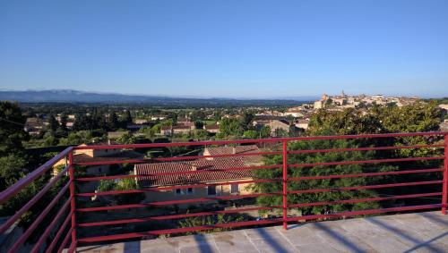
M314 140L314 141L297 141L289 145L289 150L309 150L309 149L323 149L323 148L357 148L359 147L358 140ZM324 162L338 162L338 161L358 161L375 158L375 152L332 152L332 153L314 153L314 154L299 154L289 155L289 164L311 164ZM266 159L266 164L281 164L282 156L270 156ZM312 166L301 168L289 168L289 178L300 178L308 176L325 176L325 175L340 175L340 174L356 174L356 173L372 173L372 172L386 172L396 170L396 167L389 165L332 165L332 166ZM282 171L279 170L256 170L256 178L273 179L281 178ZM328 189L328 188L342 188L354 187L368 184L374 184L380 181L382 177L366 178L344 178L344 179L325 179L325 180L306 180L306 181L290 181L288 190L313 190L313 189ZM258 192L281 192L281 183L257 183L254 190ZM343 199L354 198L373 198L377 193L373 190L335 190L329 192L304 193L304 194L290 194L288 197L289 204L311 203L311 202L326 202ZM263 196L257 198L257 202L262 206L277 206L282 203L281 196ZM325 212L340 212L362 209L373 209L381 207L377 202L362 202L362 203L346 203L329 206L315 206L300 208L304 215L324 214Z

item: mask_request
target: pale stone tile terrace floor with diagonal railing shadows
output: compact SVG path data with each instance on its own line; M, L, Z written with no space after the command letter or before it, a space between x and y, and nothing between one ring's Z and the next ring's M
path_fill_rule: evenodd
M140 240L78 252L448 252L448 215L426 212Z

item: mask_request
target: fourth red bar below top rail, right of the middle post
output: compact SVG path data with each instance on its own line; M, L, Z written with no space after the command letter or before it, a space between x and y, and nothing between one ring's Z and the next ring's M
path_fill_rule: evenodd
M442 180L437 180L437 181L398 182L398 183L388 183L388 184L375 184L375 185L340 187L340 188L327 188L327 189L289 190L288 193L289 194L304 194L304 193L316 193L316 192L329 192L329 191L337 191L337 190L369 190L369 189L382 189L382 188L392 188L392 187L402 187L402 186L440 184L440 183L443 183L443 182L444 181L442 181Z

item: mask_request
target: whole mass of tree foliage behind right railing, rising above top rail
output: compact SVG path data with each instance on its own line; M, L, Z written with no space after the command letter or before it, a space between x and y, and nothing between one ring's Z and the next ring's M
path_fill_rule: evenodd
M403 107L380 107L374 106L367 110L349 108L342 112L319 110L311 119L310 128L307 132L311 136L319 135L347 135L384 132L407 132L407 131L435 131L440 122L440 110L435 104L417 103ZM359 147L381 147L381 146L406 146L416 144L431 144L437 139L424 137L392 138L392 139L340 139L340 140L312 140L296 141L289 143L289 150L313 150L330 148L359 148ZM280 148L279 148L280 149ZM440 151L440 150L439 150ZM392 157L432 156L439 152L432 148L410 148L383 151L356 151L356 152L328 152L297 154L288 156L289 164L314 164L338 161L357 161L370 159L383 159ZM266 164L282 164L282 156L267 156ZM433 167L440 162L410 162L401 164L349 164L331 166L306 166L289 167L289 178L300 178L305 176L323 176L339 174L357 174L387 172L401 169L409 169L413 166L418 168ZM440 165L440 164L439 164ZM281 178L282 171L257 170L256 177L261 179ZM416 177L433 177L436 175L409 175L401 176L400 181L418 181ZM354 177L344 179L324 179L307 181L290 181L288 190L310 190L328 189L340 187L363 186L369 184L382 184L387 181L397 181L393 176ZM380 182L381 181L381 182ZM259 192L281 192L282 185L278 183L256 183L254 189ZM289 204L325 202L352 198L373 198L383 192L381 190L334 190L328 192L290 194ZM392 192L397 194L397 191ZM262 206L281 205L281 196L268 196L257 198ZM323 214L325 212L340 212L343 210L360 210L382 207L384 202L360 202L355 204L318 205L315 207L303 207L304 215Z

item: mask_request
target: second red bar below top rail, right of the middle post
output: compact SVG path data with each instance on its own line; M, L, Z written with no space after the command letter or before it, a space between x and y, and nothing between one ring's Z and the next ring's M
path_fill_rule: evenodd
M288 166L298 168L298 167L314 167L314 166L329 166L329 165L397 163L397 162L429 161L429 160L443 160L443 159L444 156L430 156L430 157L412 157L412 158L374 159L363 161L324 162L313 164L288 164Z

